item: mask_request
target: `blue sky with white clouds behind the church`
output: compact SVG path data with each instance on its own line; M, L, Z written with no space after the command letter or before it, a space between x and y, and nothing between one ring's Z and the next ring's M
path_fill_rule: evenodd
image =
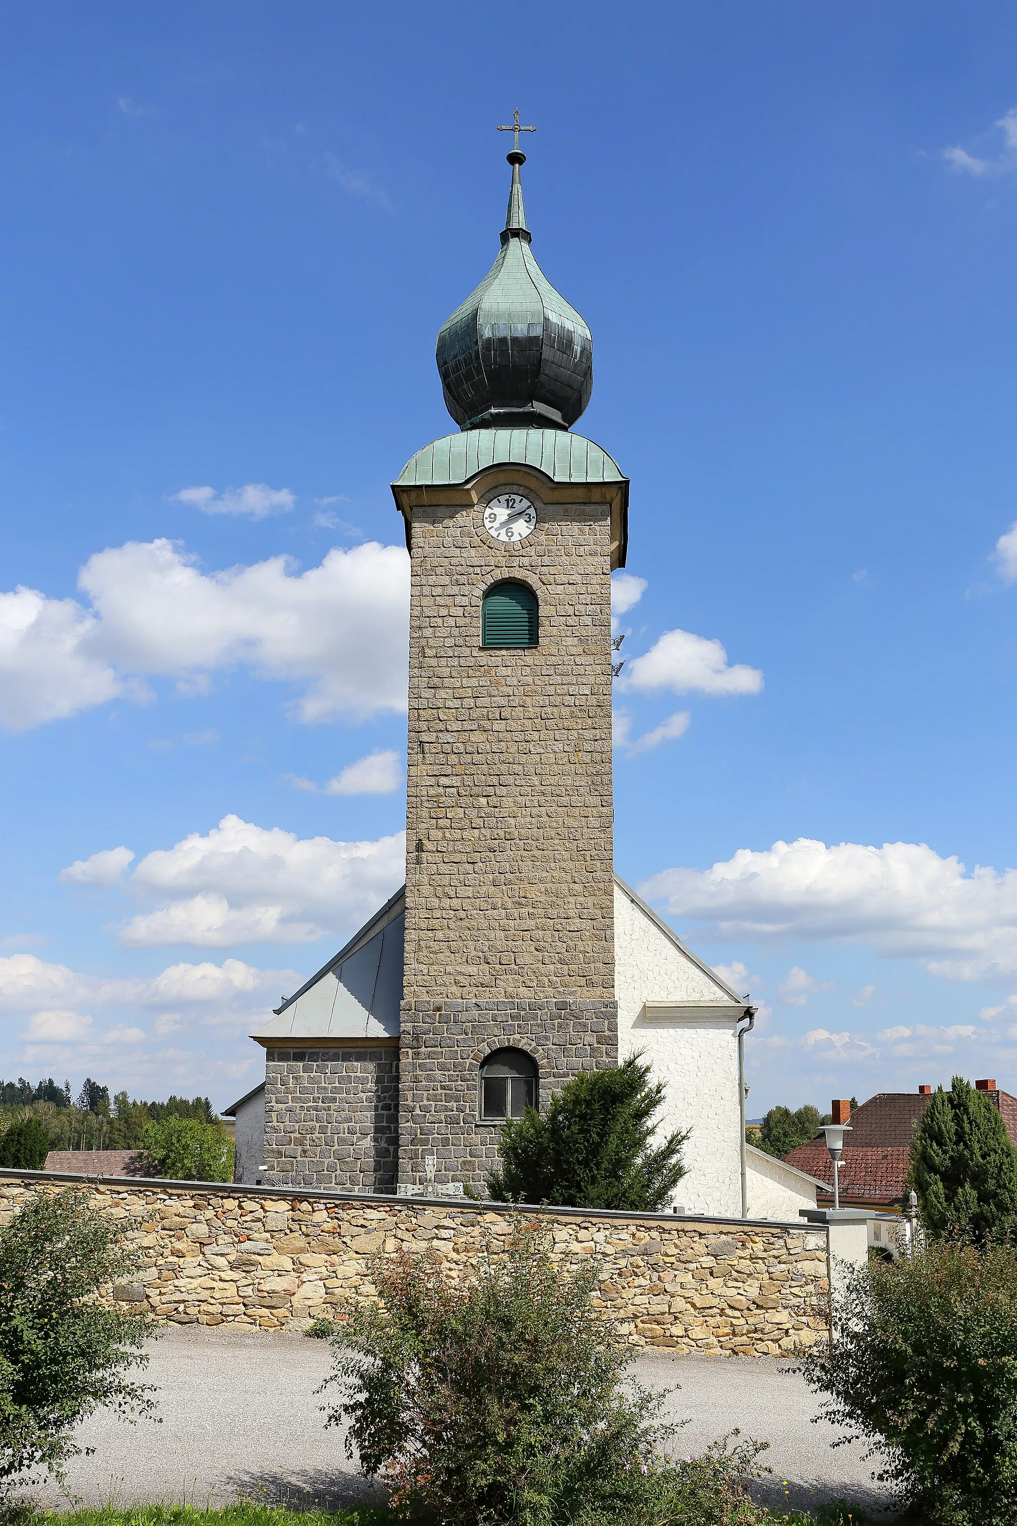
M0 1073L226 1105L399 882L389 482L515 105L633 482L619 871L761 1003L750 1114L1017 1090L988 3L0 9Z

